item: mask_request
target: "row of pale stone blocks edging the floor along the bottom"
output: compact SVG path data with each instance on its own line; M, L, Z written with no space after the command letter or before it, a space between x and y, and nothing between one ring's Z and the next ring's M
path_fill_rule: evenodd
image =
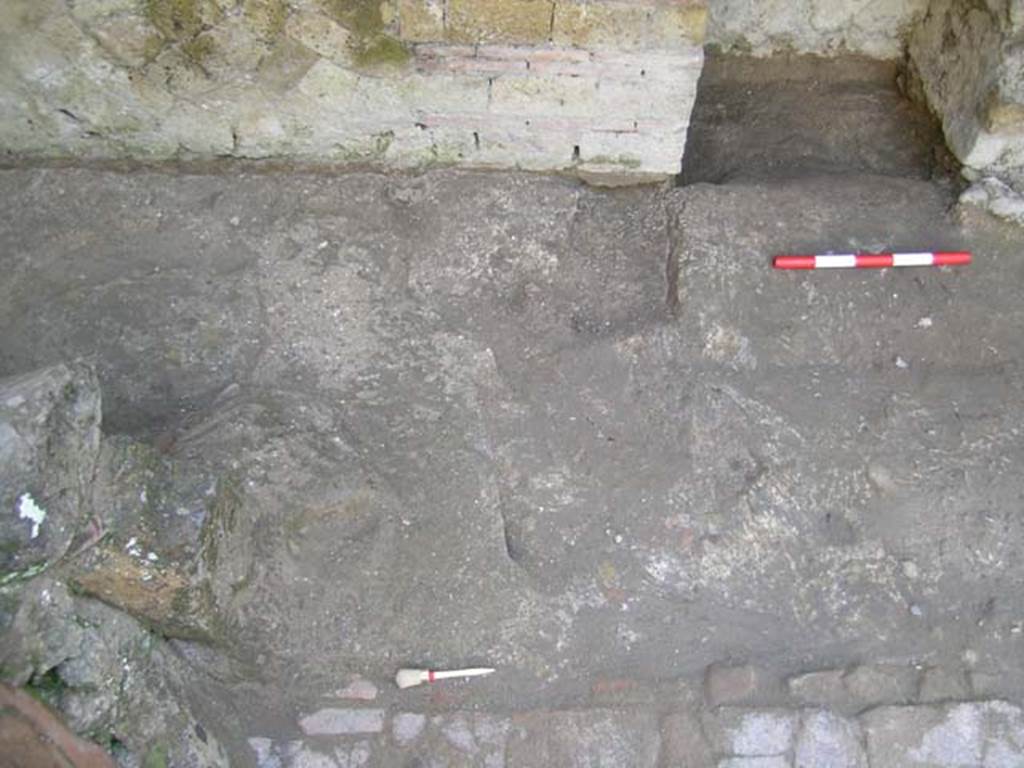
M317 738L248 743L259 768L1024 765L1024 711L970 700L964 680L957 670L874 665L797 673L783 685L768 670L722 663L706 672L702 705L669 714L621 705L512 715L325 709L300 720ZM752 698L764 703L730 702Z

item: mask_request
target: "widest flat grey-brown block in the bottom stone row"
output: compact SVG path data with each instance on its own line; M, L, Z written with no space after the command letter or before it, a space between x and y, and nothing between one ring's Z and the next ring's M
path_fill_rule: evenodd
M508 768L654 768L660 738L654 715L632 710L532 713L513 720Z

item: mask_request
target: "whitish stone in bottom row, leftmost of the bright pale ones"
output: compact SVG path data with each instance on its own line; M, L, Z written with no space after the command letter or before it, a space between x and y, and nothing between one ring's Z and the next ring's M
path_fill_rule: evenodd
M800 715L792 710L723 707L706 713L702 722L716 753L776 757L793 749Z

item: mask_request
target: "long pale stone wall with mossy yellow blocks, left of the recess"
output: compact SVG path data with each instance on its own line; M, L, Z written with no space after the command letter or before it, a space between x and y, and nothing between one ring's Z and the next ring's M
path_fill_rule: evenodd
M8 157L678 172L702 0L0 0Z

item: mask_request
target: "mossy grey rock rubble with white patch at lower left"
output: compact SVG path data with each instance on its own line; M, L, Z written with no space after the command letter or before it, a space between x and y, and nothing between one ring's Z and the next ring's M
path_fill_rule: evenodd
M117 500L97 482L109 464L138 502L135 475L101 438L100 400L95 370L82 362L0 380L0 680L35 690L127 765L226 766L183 692L189 675L174 650L69 586L69 567L117 519ZM27 520L17 513L30 495L41 513Z

